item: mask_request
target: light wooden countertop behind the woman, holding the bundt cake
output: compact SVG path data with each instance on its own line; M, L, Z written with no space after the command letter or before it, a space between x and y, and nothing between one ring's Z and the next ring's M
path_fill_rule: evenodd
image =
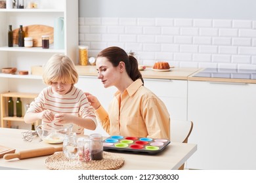
M97 76L96 67L93 65L81 66L76 65L79 76ZM171 79L171 80L187 80L188 76L198 71L197 68L171 68L171 71L152 71L152 67L146 67L144 71L140 71L143 78Z

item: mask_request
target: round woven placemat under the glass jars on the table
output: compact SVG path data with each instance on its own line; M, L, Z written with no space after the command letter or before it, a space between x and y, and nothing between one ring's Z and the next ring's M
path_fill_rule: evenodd
M116 170L123 166L125 160L110 152L103 152L103 159L89 162L79 162L68 159L63 152L55 153L45 160L45 165L51 170Z

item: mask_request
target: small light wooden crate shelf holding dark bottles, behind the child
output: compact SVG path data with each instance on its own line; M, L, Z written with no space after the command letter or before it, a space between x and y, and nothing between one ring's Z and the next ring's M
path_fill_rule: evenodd
M7 116L7 104L8 104L8 98L18 98L21 99L35 99L37 97L38 93L19 93L19 92L7 92L7 93L1 93L1 127L5 127L5 122L7 122L7 127L11 127L11 122L24 122L23 117L10 117Z

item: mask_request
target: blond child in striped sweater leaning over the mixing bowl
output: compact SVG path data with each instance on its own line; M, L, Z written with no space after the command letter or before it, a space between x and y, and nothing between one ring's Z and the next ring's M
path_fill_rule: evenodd
M95 109L82 90L75 88L78 80L73 61L61 54L52 56L43 69L43 82L48 85L30 104L24 116L27 124L42 120L50 128L73 124L73 131L96 128Z

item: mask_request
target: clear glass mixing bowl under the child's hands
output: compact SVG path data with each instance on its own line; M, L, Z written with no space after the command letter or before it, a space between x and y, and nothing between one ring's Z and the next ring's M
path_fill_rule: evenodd
M64 141L66 134L72 132L72 124L64 124L58 129L53 129L49 124L41 124L37 126L36 131L38 136L49 144L60 144Z

